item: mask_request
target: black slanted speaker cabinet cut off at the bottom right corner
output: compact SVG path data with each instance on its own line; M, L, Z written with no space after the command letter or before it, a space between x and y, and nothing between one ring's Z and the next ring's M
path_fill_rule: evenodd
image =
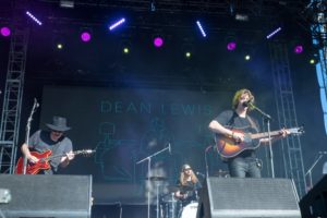
M327 175L300 201L302 217L327 217Z

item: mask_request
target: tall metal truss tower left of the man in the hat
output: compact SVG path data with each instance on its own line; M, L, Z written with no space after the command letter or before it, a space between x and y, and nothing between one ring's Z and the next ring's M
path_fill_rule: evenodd
M15 21L11 35L9 62L0 125L0 173L13 173L20 130L28 27Z

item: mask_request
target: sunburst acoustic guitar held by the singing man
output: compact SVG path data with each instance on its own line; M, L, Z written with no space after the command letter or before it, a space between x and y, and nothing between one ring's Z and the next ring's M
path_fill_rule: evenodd
M232 137L217 134L215 138L217 150L222 158L232 158L244 150L256 149L261 145L259 140L268 137L268 132L246 133L238 129L232 129L232 131L238 133L243 133L244 142L238 142ZM286 131L289 131L290 134L294 134L294 135L301 135L302 133L304 133L303 128L292 128L292 129L287 129ZM278 135L280 135L280 130L270 132L271 137Z

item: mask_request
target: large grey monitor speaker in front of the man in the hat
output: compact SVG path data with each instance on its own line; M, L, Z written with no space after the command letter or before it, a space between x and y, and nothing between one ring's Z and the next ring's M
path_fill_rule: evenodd
M92 175L0 174L0 187L11 193L5 218L90 217Z

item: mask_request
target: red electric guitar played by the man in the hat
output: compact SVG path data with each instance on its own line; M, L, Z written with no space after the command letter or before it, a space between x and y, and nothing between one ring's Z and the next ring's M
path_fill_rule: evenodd
M75 150L73 152L74 155L92 155L96 150L93 149L83 149L83 150ZM49 161L51 161L55 158L60 158L65 156L65 154L62 155L52 155L52 150L46 150L44 153L38 152L31 152L31 154L39 159L38 162L28 162L26 165L26 174L37 174L40 170L48 170L51 168ZM20 157L17 165L16 165L16 174L23 174L24 173L24 157Z

